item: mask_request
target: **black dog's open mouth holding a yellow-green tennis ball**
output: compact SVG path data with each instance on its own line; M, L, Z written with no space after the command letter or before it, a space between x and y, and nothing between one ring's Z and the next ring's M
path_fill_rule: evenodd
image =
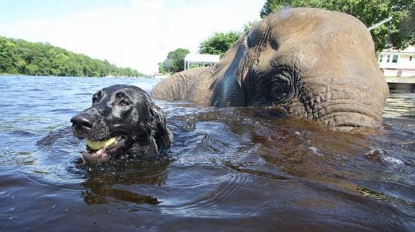
M117 155L125 145L126 140L121 136L117 136L104 141L91 141L85 139L85 142L86 151L82 154L84 159L86 159L86 161L91 159L99 161Z

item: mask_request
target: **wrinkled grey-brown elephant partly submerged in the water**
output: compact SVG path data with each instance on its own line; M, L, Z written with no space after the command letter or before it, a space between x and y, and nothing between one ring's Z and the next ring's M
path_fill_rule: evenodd
M388 85L367 27L340 12L282 10L242 35L215 66L169 77L156 99L275 107L333 127L379 127Z

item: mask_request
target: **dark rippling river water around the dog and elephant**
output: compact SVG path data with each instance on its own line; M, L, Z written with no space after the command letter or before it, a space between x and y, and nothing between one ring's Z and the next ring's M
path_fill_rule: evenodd
M415 95L384 128L330 131L250 108L156 101L175 142L152 164L88 171L69 119L115 83L0 77L0 231L415 229Z

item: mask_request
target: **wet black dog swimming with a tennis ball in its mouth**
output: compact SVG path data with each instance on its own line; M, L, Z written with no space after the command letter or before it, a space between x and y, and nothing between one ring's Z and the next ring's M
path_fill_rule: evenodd
M171 131L165 114L136 86L99 90L93 105L71 118L73 133L86 139L87 164L102 164L125 155L151 156L169 148Z

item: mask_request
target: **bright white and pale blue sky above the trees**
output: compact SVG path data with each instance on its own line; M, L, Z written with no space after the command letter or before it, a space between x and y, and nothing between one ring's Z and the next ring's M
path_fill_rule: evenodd
M0 0L0 36L152 74L169 51L259 20L265 0Z

